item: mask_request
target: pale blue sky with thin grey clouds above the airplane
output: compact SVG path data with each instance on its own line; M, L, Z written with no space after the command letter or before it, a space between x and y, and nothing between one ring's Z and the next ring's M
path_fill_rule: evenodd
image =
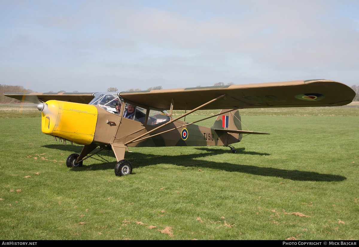
M358 78L357 0L0 0L0 84L36 92Z

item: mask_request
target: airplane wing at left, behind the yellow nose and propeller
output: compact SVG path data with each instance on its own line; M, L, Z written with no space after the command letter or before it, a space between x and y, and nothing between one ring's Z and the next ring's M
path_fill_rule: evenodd
M93 100L93 93L4 93L5 96L38 104L48 100L61 100L88 104Z

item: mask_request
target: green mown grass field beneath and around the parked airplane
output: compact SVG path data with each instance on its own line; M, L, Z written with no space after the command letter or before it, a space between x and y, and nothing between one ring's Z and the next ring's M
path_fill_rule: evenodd
M26 109L0 106L1 239L358 239L357 107L241 110L271 134L243 137L237 154L131 148L125 177L113 152L67 168L81 146L53 141Z

